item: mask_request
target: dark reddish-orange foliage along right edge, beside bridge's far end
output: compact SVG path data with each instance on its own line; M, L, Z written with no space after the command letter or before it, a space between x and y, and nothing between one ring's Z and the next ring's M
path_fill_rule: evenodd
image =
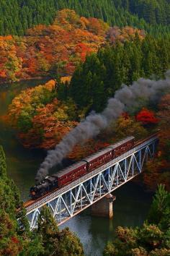
M147 187L155 190L157 184L165 184L170 190L170 94L161 99L158 111L160 129L157 158L147 163L143 180Z

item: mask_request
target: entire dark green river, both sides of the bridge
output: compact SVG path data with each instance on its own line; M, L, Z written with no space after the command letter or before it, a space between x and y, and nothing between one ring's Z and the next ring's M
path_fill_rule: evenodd
M21 90L40 85L45 80L31 80L0 85L0 117L7 112L12 99ZM0 119L0 145L6 154L7 172L19 187L22 200L28 199L28 192L34 184L37 167L45 157L42 150L27 150L17 141L16 133ZM68 226L84 245L86 256L100 256L106 242L114 239L117 226L137 226L145 220L151 194L135 182L129 182L114 192L114 218L97 218L90 215L90 209L72 218L61 228Z

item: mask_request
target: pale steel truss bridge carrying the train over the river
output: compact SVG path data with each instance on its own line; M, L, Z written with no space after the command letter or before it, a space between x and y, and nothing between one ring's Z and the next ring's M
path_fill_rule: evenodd
M143 164L154 157L157 142L158 137L152 137L135 145L128 152L25 207L30 229L36 229L43 205L48 205L60 225L129 182L141 173Z

